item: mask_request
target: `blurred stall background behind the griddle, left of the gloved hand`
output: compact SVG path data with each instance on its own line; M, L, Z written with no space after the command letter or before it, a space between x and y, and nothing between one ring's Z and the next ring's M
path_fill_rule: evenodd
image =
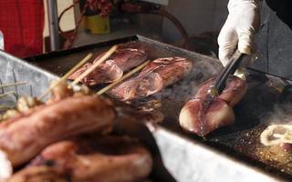
M127 35L144 35L215 57L217 35L228 13L227 2L3 0L0 30L5 37L5 51L20 57Z

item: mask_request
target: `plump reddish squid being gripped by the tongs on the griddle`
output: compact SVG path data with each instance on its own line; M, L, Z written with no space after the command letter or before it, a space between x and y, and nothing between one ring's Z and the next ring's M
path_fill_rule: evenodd
M247 90L244 80L230 76L222 94L208 100L207 92L214 80L205 82L180 113L180 125L198 136L206 136L218 127L233 124L235 113L232 107L245 96Z

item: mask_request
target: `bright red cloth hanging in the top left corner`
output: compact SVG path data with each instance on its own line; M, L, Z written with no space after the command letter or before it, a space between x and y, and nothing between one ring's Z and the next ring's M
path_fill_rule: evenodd
M43 53L43 0L0 0L5 51L19 57Z

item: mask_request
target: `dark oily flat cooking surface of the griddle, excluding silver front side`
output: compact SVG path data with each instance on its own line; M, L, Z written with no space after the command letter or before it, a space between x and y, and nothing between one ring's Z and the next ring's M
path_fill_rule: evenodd
M165 116L161 125L175 131L177 135L200 141L214 150L222 151L250 166L259 167L269 174L286 179L292 178L292 155L279 147L264 147L259 141L259 136L266 126L280 121L279 118L287 117L283 115L283 112L285 108L289 107L289 104L279 102L283 100L281 97L283 89L289 84L287 80L249 70L247 94L235 106L235 124L222 127L202 138L183 131L178 124L178 116L183 105L193 96L199 86L208 78L217 75L222 69L221 64L211 57L198 55L138 35L28 57L26 60L62 76L89 52L96 57L109 49L110 45L132 40L138 41L146 47L151 60L159 57L183 56L193 61L193 70L189 76L177 84L163 89L161 93L131 103L133 106L156 107ZM287 101L286 97L284 97L284 101ZM273 120L273 118L277 119Z

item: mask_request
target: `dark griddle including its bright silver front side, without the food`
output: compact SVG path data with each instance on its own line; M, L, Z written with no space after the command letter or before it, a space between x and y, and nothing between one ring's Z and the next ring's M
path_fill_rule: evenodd
M149 59L183 56L193 61L192 73L183 81L132 104L151 106L152 103L162 103L158 109L165 119L152 130L152 134L160 147L164 164L173 177L178 181L292 179L292 155L279 147L264 147L259 142L259 135L270 124L275 109L278 112L282 107L290 106L286 102L289 92L285 96L282 94L285 86L290 84L288 80L248 70L248 91L244 99L235 106L235 124L222 127L202 138L183 131L178 124L178 116L198 87L223 68L214 58L133 35L96 45L27 57L26 61L62 76L89 52L98 56L109 49L110 45L129 41L145 45Z

